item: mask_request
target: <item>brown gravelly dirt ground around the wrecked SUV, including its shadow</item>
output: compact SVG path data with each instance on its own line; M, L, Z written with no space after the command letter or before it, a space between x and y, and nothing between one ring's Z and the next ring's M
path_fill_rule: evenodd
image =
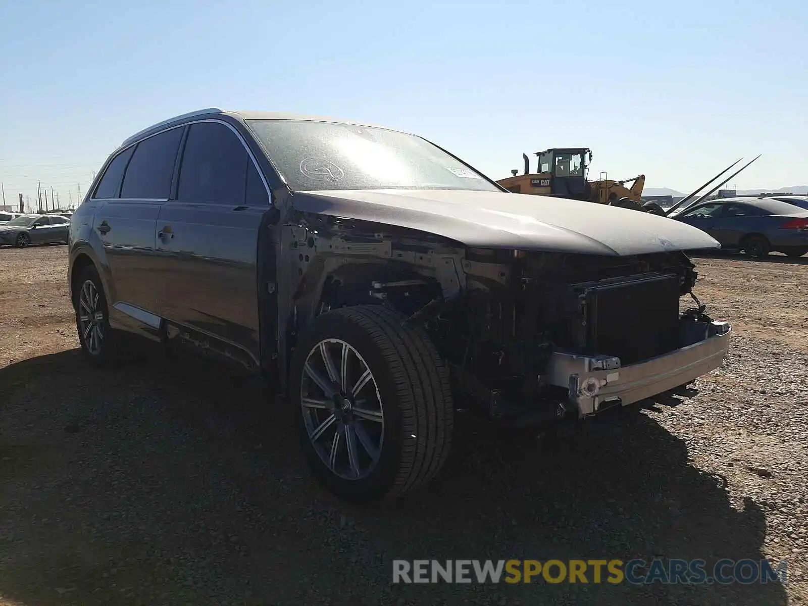
M346 507L290 412L197 362L79 356L65 247L0 250L0 604L808 600L808 258L697 259L734 323L692 398L553 448L460 419L435 486ZM786 587L390 583L393 558L789 558Z

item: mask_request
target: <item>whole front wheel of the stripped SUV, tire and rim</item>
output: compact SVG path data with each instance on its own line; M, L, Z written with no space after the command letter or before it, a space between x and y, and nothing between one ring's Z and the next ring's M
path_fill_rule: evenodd
M448 369L423 329L403 326L404 319L381 305L336 309L314 320L292 355L290 400L305 457L319 481L351 503L395 499L423 486L443 467L452 443ZM367 383L356 391L339 388L326 400L312 372L330 376L322 343L338 377L331 388L337 382L359 385L362 368L371 374ZM343 360L349 360L347 380ZM313 440L330 417L333 422Z

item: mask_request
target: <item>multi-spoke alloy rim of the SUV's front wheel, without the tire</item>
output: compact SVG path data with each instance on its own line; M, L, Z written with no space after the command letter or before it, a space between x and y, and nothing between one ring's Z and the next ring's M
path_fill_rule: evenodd
M340 478L365 478L385 435L381 396L367 362L349 343L323 339L309 351L301 377L301 413L322 462Z

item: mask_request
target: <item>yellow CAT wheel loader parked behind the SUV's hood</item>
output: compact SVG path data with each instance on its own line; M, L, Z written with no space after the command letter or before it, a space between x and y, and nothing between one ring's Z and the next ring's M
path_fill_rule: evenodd
M524 174L517 175L519 170L514 169L511 170L513 176L499 179L497 183L517 194L588 200L637 210L642 208L642 187L645 186L646 175L614 181L607 179L606 173L600 173L597 181L587 181L588 166L592 160L588 147L545 149L536 155L536 172L530 171L528 156L522 154ZM631 187L628 187L629 184Z

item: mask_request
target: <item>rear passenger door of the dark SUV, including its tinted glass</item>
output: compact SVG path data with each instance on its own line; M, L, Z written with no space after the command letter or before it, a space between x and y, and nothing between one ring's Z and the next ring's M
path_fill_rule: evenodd
M171 190L183 128L175 127L124 149L94 192L93 228L110 272L113 323L152 334L159 326L162 276L155 273L154 232Z

